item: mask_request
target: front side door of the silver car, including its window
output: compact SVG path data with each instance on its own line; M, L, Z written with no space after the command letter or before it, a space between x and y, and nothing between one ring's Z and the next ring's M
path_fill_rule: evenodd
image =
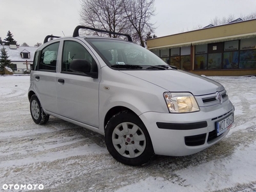
M99 127L99 82L86 74L72 72L72 60L83 59L91 64L91 72L98 72L92 52L79 40L63 42L61 71L56 76L58 113L84 124Z

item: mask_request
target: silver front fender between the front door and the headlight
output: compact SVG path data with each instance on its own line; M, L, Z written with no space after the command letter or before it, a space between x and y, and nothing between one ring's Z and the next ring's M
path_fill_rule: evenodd
M116 106L129 108L138 116L148 111L168 113L164 92L166 90L155 84L109 67L102 68L99 88L100 129L104 130L104 117Z

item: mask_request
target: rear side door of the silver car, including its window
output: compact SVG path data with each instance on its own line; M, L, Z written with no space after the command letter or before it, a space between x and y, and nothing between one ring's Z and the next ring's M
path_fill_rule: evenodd
M54 42L35 54L33 82L36 95L46 111L58 113L56 92L56 65L60 42Z

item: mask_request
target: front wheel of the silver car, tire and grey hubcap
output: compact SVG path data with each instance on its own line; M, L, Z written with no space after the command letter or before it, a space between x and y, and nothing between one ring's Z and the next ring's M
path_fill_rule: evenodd
M105 143L111 156L127 165L145 164L154 155L145 125L137 115L129 111L122 111L109 120Z

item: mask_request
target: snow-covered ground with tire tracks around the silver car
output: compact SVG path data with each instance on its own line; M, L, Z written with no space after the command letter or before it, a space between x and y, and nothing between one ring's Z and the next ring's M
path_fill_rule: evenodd
M236 107L228 136L198 154L156 156L132 167L109 155L100 134L53 116L36 125L29 76L0 76L0 191L26 191L4 184L44 185L38 191L256 191L256 77L209 78L225 86Z

